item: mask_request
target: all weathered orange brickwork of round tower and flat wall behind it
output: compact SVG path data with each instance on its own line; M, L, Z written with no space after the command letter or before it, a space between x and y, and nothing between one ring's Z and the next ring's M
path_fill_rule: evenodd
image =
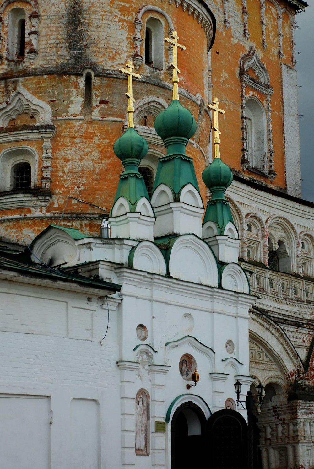
M222 159L242 171L241 159L241 87L238 77L240 58L254 45L261 61L266 65L270 84L274 88L272 96L272 126L275 150L275 170L277 176L272 185L285 188L283 151L283 114L281 97L280 60L276 43L276 13L270 2L266 16L271 28L267 28L268 47L261 45L260 2L248 0L248 29L250 38L243 35L242 3L230 2L230 27L225 29L220 1L213 1L211 9L215 15L217 31L211 51L213 97L217 96L221 107L226 111L220 119ZM190 143L187 153L194 160L200 193L205 201L206 191L201 173L207 164L208 144L211 130L209 114L199 110L199 100L205 104L207 96L207 37L198 21L188 8L177 7L175 2L153 2L161 8L173 23L186 46L178 52L181 70L179 86L183 90L181 103L188 107L198 125L195 144ZM286 5L282 2L282 5ZM38 55L33 64L25 60L18 63L6 61L6 38L8 36L8 12L13 7L22 7L26 17L31 13L27 2L14 2L2 11L3 59L0 63L0 107L8 105L16 87L22 85L36 98L47 103L52 110L52 123L56 133L52 144L51 196L46 209L23 208L0 212L3 239L12 239L27 244L49 223L56 223L61 216L69 196L82 199L109 211L115 196L119 174L122 171L120 160L115 157L113 144L126 121L127 100L126 80L119 73L126 61L134 53L134 18L143 6L140 1L117 3L98 0L91 8L90 2L71 0L51 2L43 0L39 4ZM145 22L148 17L160 19L165 36L168 23L158 11L146 12L142 16L144 25L141 35L145 37ZM28 21L28 20L26 20ZM274 23L275 22L275 23ZM272 29L272 32L270 30ZM289 36L289 37L288 37ZM283 61L291 63L290 20L283 15ZM144 52L145 40L141 44ZM168 63L168 49L164 46L165 63ZM290 47L290 48L289 48ZM145 60L144 60L145 62ZM84 117L84 75L86 69L94 74L92 81L92 120ZM135 98L156 96L167 103L171 100L171 79L169 70L159 71L142 63L138 69L141 79L133 84ZM265 97L254 91L265 105ZM202 105L203 106L203 105ZM32 123L28 115L17 116L10 124ZM38 152L38 182L42 176L41 140L23 140L0 144L0 152L9 146L27 144ZM212 145L212 143L210 144ZM161 153L164 148L151 144L152 149ZM209 147L210 148L210 147ZM270 184L268 178L249 174ZM99 208L69 199L62 223L77 227L89 234L99 234L103 214ZM26 216L25 216L26 215ZM13 217L13 218L12 218Z

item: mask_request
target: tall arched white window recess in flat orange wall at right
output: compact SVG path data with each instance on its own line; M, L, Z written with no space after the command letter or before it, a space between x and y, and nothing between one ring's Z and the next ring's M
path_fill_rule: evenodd
M267 173L266 114L264 106L253 96L245 101L245 126L249 164Z

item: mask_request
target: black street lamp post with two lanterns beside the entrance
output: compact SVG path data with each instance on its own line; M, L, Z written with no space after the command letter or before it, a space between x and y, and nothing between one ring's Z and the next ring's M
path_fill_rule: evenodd
M240 401L241 387L242 387L242 384L240 383L239 380L237 380L237 382L234 384L234 388L237 394L237 407L239 407L239 404L241 404L241 406L244 409L246 408L247 410L247 448L248 448L247 467L248 469L253 469L253 409L254 409L254 404L256 404L258 407L258 410L260 411L260 408L262 406L264 386L262 386L260 383L256 387L257 394L259 396L259 402L254 402L252 391L247 391L245 401Z

